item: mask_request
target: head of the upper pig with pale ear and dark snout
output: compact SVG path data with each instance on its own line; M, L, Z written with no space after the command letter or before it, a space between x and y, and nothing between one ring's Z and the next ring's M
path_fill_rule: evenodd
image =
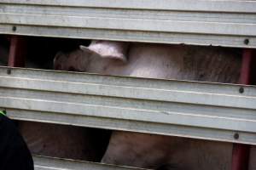
M88 48L80 46L71 53L56 54L54 69L113 74L113 66L125 65L127 62L128 46L125 42L93 41Z

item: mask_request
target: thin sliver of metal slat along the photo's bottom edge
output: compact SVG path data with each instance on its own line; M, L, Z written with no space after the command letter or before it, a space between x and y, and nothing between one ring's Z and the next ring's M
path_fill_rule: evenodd
M143 170L136 167L122 167L89 161L74 161L61 158L33 156L35 170Z

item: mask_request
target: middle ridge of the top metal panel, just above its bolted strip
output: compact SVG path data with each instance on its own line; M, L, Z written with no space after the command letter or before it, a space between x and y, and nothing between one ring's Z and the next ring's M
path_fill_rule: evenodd
M44 20L42 20L44 18ZM58 15L1 14L4 24L27 26L57 26L128 31L185 32L191 34L219 34L256 36L256 24L213 23L177 20L137 20ZM140 24L138 24L140 23ZM189 29L188 29L189 28Z

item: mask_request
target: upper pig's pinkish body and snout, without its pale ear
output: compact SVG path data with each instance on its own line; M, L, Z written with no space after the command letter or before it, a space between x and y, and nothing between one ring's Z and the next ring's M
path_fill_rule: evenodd
M202 82L236 83L240 76L240 58L223 48L133 43L129 52L119 57L83 50L57 54L55 69Z

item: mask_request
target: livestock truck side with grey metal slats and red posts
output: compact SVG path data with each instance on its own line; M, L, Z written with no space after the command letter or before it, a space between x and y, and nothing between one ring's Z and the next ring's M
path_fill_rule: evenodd
M53 150L67 149L71 155L76 151L73 147L81 144L55 149L65 142L58 136L59 127L73 127L74 132L90 128L91 136L103 135L92 142L101 148L100 154L81 161L68 154L61 158L51 156L53 150L48 152L44 144L32 148L30 139L37 141L44 138L41 135L48 135L38 128L38 132L34 130L31 136L25 136L36 154L35 169L139 169L140 166L99 163L110 130L117 130L178 139L183 149L171 156L177 169L256 170L256 1L0 0L0 34L0 59L6 61L0 68L0 109L19 127L24 122L30 125L21 129L24 135L26 130L44 124L44 130L49 127L48 133L54 137L49 138ZM176 44L175 47L204 50L202 56L212 49L214 53L235 51L240 58L239 82L191 82L52 70L58 51L89 45L90 40L172 44L170 47ZM195 64L195 69L196 65L199 64ZM22 68L25 66L37 69ZM86 143L86 139L83 141ZM188 145L192 143L188 141L226 148L209 148L207 152L197 150L195 145L189 160L196 164L188 167L186 163L190 161L183 160L188 156L186 151L191 150ZM150 156L154 147L136 159L144 160L143 156ZM227 150L227 155L211 156L223 150ZM129 156L130 151L123 155ZM37 156L40 152L48 154ZM206 162L208 167L200 166Z

